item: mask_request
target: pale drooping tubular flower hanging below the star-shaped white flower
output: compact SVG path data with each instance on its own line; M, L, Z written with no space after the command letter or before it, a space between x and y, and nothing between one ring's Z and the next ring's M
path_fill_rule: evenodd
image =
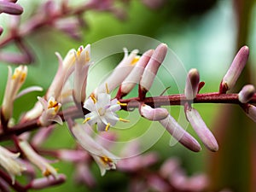
M107 170L116 168L117 157L97 143L84 129L90 129L90 125L73 125L73 135L77 138L79 144L87 150L96 161L103 176Z

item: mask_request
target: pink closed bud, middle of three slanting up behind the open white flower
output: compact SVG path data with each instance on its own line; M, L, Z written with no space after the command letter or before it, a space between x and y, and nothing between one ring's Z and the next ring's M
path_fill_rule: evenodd
M154 50L150 49L142 55L139 61L137 61L136 66L132 69L131 73L120 85L120 88L119 88L120 97L126 96L128 93L130 93L130 91L134 88L134 86L139 83L143 75L144 68L147 66L148 61L151 55L153 55L153 53L154 53Z

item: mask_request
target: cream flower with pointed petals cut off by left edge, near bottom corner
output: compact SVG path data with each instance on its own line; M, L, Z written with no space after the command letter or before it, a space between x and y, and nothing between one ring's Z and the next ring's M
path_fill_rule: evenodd
M15 176L20 176L21 172L26 170L26 166L23 166L18 157L20 153L14 154L0 146L0 165L9 173L12 179L12 183L15 183Z

